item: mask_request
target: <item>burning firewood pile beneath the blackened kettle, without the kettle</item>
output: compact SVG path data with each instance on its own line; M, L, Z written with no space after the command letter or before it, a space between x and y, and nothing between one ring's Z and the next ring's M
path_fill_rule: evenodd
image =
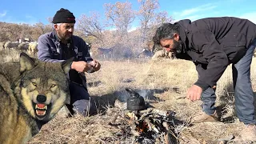
M125 117L133 121L130 130L138 142L142 139L151 139L153 143L171 143L170 136L174 132L171 131L173 129L170 127L173 124L172 119L170 119L173 115L170 111L154 108L139 111L127 110Z

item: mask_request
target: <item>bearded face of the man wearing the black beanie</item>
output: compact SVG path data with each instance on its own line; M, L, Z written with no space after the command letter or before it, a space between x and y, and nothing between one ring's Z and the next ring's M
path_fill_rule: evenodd
M71 38L74 32L74 23L62 23L60 26L54 25L58 37L66 41Z

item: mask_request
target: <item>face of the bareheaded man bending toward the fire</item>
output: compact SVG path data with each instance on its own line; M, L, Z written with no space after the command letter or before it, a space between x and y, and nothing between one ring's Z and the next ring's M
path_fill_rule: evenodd
M163 48L165 48L168 52L178 52L180 53L180 50L182 50L182 45L181 42L178 40L174 39L162 39L160 41L160 44Z

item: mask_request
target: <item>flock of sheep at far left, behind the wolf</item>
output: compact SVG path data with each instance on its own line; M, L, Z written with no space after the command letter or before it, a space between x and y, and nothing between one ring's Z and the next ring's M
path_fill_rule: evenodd
M38 42L0 42L0 50L27 50L29 54L36 54L38 52L37 47Z

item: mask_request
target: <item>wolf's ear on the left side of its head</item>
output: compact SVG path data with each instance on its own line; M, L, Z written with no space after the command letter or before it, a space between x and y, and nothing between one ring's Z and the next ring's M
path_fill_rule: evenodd
M21 73L24 72L25 70L31 70L34 68L34 66L37 66L36 59L30 58L30 56L24 52L20 54L19 64L20 64Z

